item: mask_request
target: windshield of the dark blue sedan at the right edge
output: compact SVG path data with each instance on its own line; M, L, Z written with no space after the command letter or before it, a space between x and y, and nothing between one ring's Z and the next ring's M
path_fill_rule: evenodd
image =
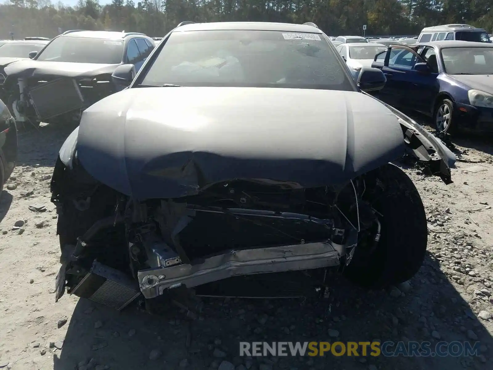
M441 52L448 74L493 74L493 47L450 47Z

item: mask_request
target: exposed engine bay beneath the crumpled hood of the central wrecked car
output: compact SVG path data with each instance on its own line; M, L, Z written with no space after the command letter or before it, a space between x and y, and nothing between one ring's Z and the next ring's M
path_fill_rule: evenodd
M234 180L189 197L137 202L94 182L60 192L70 186L61 186L66 171L57 168L52 201L62 215L75 212L87 231L62 251L56 299L67 281L68 293L122 309L140 294L154 298L238 275L342 268L356 245L371 249L380 238L368 199L383 188L372 173L317 188ZM78 234L74 224L58 227L61 242Z

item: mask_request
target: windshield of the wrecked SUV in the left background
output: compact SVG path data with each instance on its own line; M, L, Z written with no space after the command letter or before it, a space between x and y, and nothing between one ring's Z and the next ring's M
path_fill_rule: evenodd
M123 40L61 36L51 41L36 60L119 64L122 54Z

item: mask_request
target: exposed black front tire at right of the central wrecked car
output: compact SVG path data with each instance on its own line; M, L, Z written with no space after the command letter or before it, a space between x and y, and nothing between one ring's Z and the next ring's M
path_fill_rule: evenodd
M378 199L368 201L382 215L380 240L373 252L359 242L343 274L359 286L379 289L407 281L418 272L428 230L423 202L411 179L390 164L375 172L385 189ZM375 245L373 238L369 244Z

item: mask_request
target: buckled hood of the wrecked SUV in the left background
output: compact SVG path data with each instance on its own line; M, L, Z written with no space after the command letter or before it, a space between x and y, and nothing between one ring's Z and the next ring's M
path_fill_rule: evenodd
M118 64L92 64L21 60L5 67L8 77L93 77L98 74L111 74Z

